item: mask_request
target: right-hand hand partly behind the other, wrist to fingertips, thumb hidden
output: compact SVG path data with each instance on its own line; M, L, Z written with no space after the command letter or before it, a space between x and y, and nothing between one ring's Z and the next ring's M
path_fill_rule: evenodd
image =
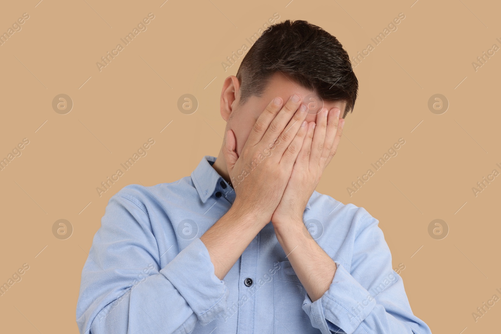
M344 119L339 118L340 113L337 107L331 110L322 108L317 114L316 123L308 124L306 138L294 163L289 183L272 216L275 227L290 222L303 223L306 204L325 167L336 154L344 125Z

